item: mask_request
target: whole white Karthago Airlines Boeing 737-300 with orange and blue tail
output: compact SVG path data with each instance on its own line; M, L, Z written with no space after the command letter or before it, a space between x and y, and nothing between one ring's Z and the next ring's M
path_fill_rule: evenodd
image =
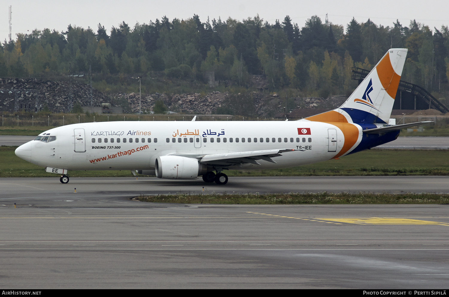
M110 169L225 184L223 170L337 159L424 123L389 124L406 55L405 48L388 50L343 105L298 121L79 123L45 131L15 153L61 175L62 183L68 170Z

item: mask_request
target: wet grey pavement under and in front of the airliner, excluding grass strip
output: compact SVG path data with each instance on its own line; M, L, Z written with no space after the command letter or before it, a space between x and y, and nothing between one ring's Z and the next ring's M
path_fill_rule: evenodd
M447 288L449 205L179 205L129 199L198 192L203 185L152 178L72 178L68 184L58 178L0 179L0 284ZM449 192L449 178L230 178L206 191L269 188Z

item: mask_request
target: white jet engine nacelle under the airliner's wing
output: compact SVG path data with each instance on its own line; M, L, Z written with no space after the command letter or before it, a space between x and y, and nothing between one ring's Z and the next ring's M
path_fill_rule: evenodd
M157 157L154 167L159 179L197 179L207 172L197 159L180 156Z

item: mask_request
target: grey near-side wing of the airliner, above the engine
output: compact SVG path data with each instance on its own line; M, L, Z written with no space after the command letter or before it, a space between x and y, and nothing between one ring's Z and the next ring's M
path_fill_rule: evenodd
M197 157L199 162L202 164L207 164L211 166L232 166L237 164L251 163L260 165L256 160L264 160L272 163L276 163L271 158L282 156L281 153L293 152L297 149L294 148L284 148L284 149L268 149L261 151L249 151L249 152L238 152L238 153L220 153L220 154L209 154Z

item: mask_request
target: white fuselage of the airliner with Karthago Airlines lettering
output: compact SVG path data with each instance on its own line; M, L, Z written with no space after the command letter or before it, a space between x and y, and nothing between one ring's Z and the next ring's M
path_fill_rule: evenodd
M353 125L361 135L361 127ZM40 135L56 139L24 144L16 151L18 156L39 166L67 170L154 170L159 156L298 149L273 158L276 163L260 160L260 165L226 166L282 168L329 160L345 141L338 127L310 121L92 122L57 127ZM335 135L332 142L330 135ZM28 153L21 153L27 150L31 151L29 159Z

